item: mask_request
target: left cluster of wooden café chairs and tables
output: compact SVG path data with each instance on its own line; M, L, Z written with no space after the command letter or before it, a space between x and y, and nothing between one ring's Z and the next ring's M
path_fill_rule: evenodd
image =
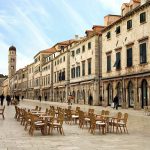
M20 121L20 124L25 126L25 130L27 130L29 126L30 135L33 135L34 130L41 130L43 135L52 134L53 129L57 129L60 134L64 135L62 127L64 121L64 111L62 109L59 109L59 112L57 111L57 113L53 108L46 109L45 112L43 112L43 114L40 116L36 113L32 113L41 111L41 108L39 109L38 106L32 110L15 106L15 110L16 120Z

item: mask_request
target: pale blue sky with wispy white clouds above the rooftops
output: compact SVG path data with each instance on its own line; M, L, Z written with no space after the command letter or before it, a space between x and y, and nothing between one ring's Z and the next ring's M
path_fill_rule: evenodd
M104 16L120 15L129 0L0 0L0 74L8 74L8 49L17 49L17 70L39 51L84 36Z

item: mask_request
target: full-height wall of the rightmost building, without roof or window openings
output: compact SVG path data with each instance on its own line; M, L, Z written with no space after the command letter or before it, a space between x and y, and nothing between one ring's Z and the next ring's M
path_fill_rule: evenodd
M146 22L140 24L140 13L146 12ZM132 28L127 30L127 21L132 19ZM121 27L121 33L116 35L116 27ZM133 107L141 109L150 104L150 6L141 8L131 16L122 19L111 26L102 35L102 79L103 79L103 106L110 105L119 90L119 104L123 108ZM107 39L107 32L111 38ZM140 64L139 45L146 42L147 63ZM127 48L132 47L132 67L127 67ZM121 69L114 67L116 53L121 52ZM111 71L107 72L107 55L111 55ZM129 83L132 83L130 90ZM118 84L120 88L118 89ZM145 84L145 87L144 87ZM110 99L109 85L112 86ZM130 93L130 92L131 93ZM145 94L146 93L146 94Z

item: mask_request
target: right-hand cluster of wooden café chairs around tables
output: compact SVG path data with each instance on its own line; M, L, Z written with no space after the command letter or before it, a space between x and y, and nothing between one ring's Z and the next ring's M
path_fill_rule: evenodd
M110 112L108 110L102 110L101 114L95 115L94 109L89 109L88 113L79 111L79 127L84 128L84 125L89 124L89 131L95 133L98 128L103 134L106 132L121 132L122 128L125 133L128 133L127 120L128 114L118 112L114 117L109 116Z

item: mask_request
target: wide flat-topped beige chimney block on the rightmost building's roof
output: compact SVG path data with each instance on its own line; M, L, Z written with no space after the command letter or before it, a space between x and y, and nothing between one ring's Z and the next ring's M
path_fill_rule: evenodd
M107 15L104 17L104 26L109 26L110 24L112 24L120 18L120 15Z

